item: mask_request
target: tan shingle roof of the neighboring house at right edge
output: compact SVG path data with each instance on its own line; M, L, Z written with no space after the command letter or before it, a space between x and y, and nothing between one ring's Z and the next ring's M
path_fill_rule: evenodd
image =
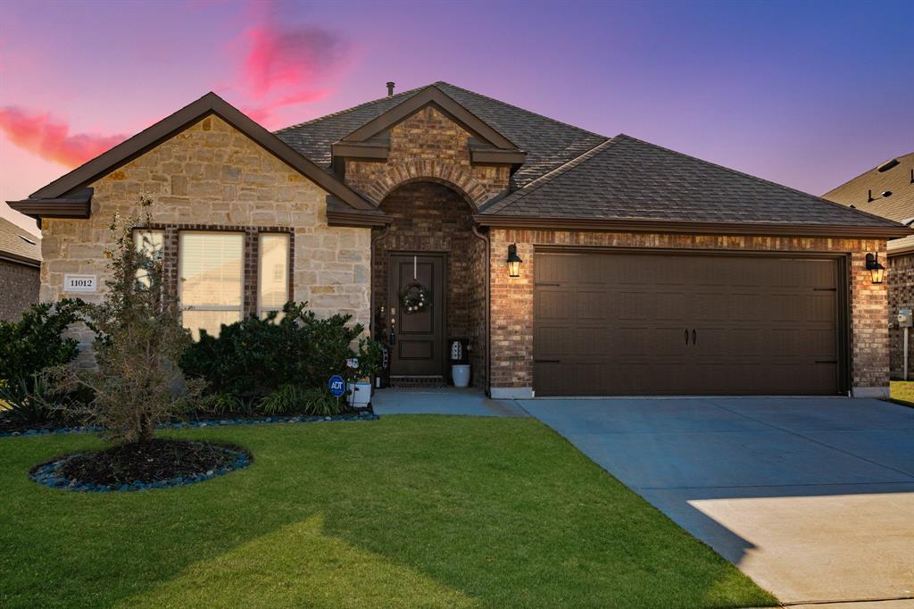
M886 191L892 194L883 197ZM896 222L911 224L914 222L914 153L889 159L829 190L822 197ZM889 241L888 251L914 251L914 236Z

